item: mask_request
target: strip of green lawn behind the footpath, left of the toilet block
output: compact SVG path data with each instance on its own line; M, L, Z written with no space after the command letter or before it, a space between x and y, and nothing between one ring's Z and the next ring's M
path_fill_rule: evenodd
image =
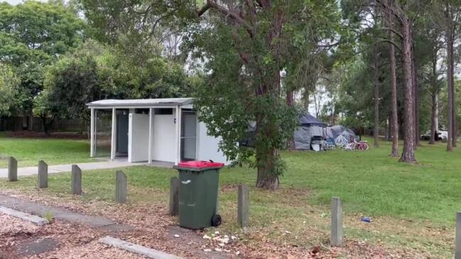
M90 162L90 143L86 140L54 138L7 138L0 135L0 168L7 166L6 158L13 156L18 167Z

